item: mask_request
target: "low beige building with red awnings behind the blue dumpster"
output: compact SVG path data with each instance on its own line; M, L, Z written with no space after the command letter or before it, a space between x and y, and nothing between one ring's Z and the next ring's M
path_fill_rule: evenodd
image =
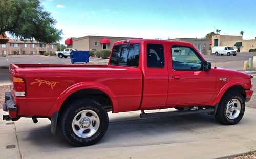
M68 48L74 48L77 50L102 50L112 49L113 44L116 41L125 39L142 39L133 37L112 37L112 36L84 36L79 38L70 38L65 40L65 44Z

